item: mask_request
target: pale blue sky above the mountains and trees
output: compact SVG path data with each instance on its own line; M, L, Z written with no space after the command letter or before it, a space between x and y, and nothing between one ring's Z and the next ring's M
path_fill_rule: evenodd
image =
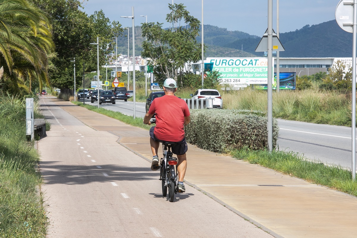
M305 25L316 25L335 19L335 9L339 0L279 0L280 32L295 31ZM135 25L145 22L164 23L172 0L84 0L84 11L91 15L103 10L111 21L119 21L123 27L131 26L134 6ZM201 21L202 0L174 0L183 3L190 14ZM267 29L268 0L203 0L203 24L214 25L227 30L243 31L262 36ZM273 0L273 29L276 31L276 0Z

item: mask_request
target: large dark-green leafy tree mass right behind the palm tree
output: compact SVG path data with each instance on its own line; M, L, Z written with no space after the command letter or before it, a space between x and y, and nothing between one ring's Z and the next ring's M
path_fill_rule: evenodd
M106 55L112 51L109 44L112 37L121 34L119 22L105 17L102 11L88 16L82 12L83 1L77 0L32 0L51 17L53 41L57 57L54 59L55 70L51 71L51 85L61 89L74 88L74 69L71 60L76 58L76 78L85 71L97 70L97 47L99 37L99 64L105 65ZM61 91L62 92L62 91Z

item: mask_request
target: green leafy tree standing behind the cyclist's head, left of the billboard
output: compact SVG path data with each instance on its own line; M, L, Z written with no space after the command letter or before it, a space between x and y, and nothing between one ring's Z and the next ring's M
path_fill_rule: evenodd
M201 57L201 44L196 41L200 21L191 16L183 4L169 4L169 9L166 16L171 25L169 29L162 29L162 23L158 22L141 26L142 36L147 37L142 56L150 58L149 65L154 66L154 75L161 84L166 78L177 80L178 71L188 72L191 62Z

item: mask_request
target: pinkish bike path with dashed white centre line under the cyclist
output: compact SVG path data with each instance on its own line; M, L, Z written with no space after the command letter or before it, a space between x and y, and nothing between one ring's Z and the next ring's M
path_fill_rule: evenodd
M86 126L49 98L40 104L51 123L38 142L47 238L271 237L188 185L170 203L158 172L117 136Z

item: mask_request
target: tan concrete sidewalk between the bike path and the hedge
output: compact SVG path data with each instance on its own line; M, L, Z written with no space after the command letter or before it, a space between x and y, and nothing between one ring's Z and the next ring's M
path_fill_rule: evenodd
M56 104L95 130L119 136L118 143L146 158L150 169L149 131L70 102ZM187 163L188 184L275 237L357 236L356 197L192 145Z

